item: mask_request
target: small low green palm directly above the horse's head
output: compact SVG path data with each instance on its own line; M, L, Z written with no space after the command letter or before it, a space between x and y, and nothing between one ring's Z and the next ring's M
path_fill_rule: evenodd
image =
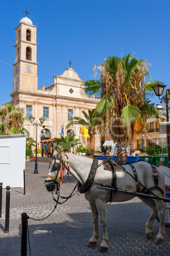
M55 138L55 143L62 148L63 152L67 152L73 146L81 144L81 141L79 141L79 139L75 139L74 134L65 137L61 135L61 138Z

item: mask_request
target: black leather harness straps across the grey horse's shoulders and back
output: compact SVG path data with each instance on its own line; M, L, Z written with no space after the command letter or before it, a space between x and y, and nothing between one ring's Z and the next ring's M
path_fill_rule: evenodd
M81 185L81 183L78 183L78 190L79 190L79 192L81 194L83 194L83 193L88 192L91 189L91 186L93 185L94 180L95 180L96 170L98 169L98 167L100 167L105 162L108 162L108 164L110 165L110 167L112 169L112 185L111 185L111 187L115 188L114 194L113 194L113 190L111 190L111 192L110 192L110 202L112 203L114 195L117 192L117 183L116 183L116 181L117 181L117 174L116 174L116 171L115 171L116 162L113 159L110 159L110 158L105 159L105 161L102 162L99 165L98 165L98 160L97 159L93 159L93 163L91 165L91 170L89 172L88 179L82 185ZM131 168L133 170L134 176L131 173L129 173L128 171L126 171L126 168L124 166L122 166L118 162L117 162L117 164L121 167L122 171L125 171L126 173L128 173L134 179L134 181L136 182L136 192L138 192L138 193L142 192L144 194L150 194L150 193L152 193L150 190L152 190L153 188L158 188L162 192L162 194L164 194L164 191L158 185L158 173L157 173L157 169L154 166L154 164L149 163L152 166L153 178L154 178L154 183L155 183L155 186L154 187L150 187L150 188L144 187L140 183L140 181L138 181L138 175L137 175L136 169L135 169L133 164L129 163L129 166L131 166ZM140 190L140 185L141 185L141 187L143 187L142 191Z

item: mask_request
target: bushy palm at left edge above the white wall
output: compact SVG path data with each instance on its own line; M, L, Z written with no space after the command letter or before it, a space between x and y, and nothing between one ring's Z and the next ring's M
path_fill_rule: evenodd
M23 122L27 120L24 117L24 110L16 107L14 104L6 104L5 108L0 110L0 132L5 134L28 134L27 129L23 127Z

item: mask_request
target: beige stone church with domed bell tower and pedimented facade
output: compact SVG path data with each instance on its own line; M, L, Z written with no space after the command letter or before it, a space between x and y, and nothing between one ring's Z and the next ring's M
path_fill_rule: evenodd
M72 117L82 117L82 110L93 110L99 99L81 94L82 83L73 68L67 68L62 75L53 76L53 85L42 85L38 89L37 79L37 27L26 16L16 27L15 64L13 75L12 103L25 110L26 117L34 117L34 122L44 117L45 121L37 127L37 142L43 139L60 138L75 134L84 145L88 140L81 133L81 126L74 125L67 131L66 125ZM70 62L71 64L71 62ZM25 121L24 127L30 132L30 137L36 140L36 125L30 120ZM100 148L100 134L95 135L95 149Z

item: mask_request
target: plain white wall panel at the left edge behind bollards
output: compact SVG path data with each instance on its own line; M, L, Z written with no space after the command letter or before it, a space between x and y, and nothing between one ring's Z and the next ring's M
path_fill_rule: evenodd
M0 182L3 188L23 187L26 134L0 136Z

